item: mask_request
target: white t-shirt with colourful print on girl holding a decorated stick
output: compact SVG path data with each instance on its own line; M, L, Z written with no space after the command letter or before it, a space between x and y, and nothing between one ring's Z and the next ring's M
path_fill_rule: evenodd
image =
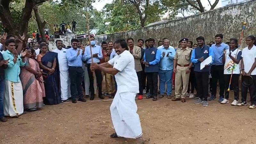
M233 70L233 74L240 74L241 71L240 71L240 64L236 64L229 56L228 56L228 53L229 53L229 50L230 49L227 49L226 50L226 55L225 55L225 58L226 58L226 61L225 61L225 65L224 65L224 74L231 74L232 73L232 69L234 68ZM238 51L238 52L237 52ZM236 56L236 52L237 52L237 56ZM241 50L239 49L235 49L235 51L231 51L231 56L233 56L234 58L236 58L236 60L241 60Z

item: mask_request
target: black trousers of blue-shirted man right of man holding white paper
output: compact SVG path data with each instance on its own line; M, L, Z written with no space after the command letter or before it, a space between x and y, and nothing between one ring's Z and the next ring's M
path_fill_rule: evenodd
M216 96L217 93L217 82L219 81L220 86L220 97L224 97L225 82L224 82L224 65L212 65L212 95Z

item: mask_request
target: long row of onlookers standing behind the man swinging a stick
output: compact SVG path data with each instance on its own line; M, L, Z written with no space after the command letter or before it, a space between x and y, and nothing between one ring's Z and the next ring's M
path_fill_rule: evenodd
M156 101L157 96L164 98L166 93L166 97L172 99L171 101L186 102L188 96L197 99L195 104L208 106L208 100L216 99L219 84L221 104L229 103L230 88L234 91L234 101L231 105L247 105L249 89L249 108L254 109L256 39L254 36L248 36L248 46L242 51L238 49L236 38L230 38L228 44L222 41L222 34L217 34L215 42L209 44L205 44L203 36L197 37L197 44L194 45L188 38L182 38L175 49L167 38L159 41L157 47L153 38L145 41L128 38L126 51L134 58L134 69L139 82L138 100L142 100L145 94L146 99L152 98ZM0 120L7 121L4 116L17 118L44 105L55 105L69 100L72 103L77 100L86 102L85 98L89 97L94 100L93 72L96 76L98 97L114 98L118 89L115 76L100 69L92 71L91 65L113 59L119 55L118 47L114 47L112 41L103 41L101 46L97 45L93 36L90 36L90 42L91 49L89 44L82 44L74 38L71 40L71 46L66 48L61 40L56 40L56 48L49 51L46 41L27 44L25 36L17 37L6 33L1 36ZM212 57L212 62L201 68L201 63L208 57ZM126 73L129 75L129 72ZM239 102L240 74L242 99ZM105 91L102 91L103 79ZM128 81L120 83L130 84ZM175 90L174 96L172 90Z

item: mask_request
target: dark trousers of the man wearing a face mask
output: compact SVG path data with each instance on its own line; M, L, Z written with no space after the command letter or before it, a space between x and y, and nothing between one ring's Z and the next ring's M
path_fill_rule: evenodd
M98 63L100 64L100 63ZM93 75L92 75L92 71L91 71L91 64L88 63L87 64L87 70L88 70L88 76L89 76L89 80L90 80L90 91L91 91L91 94L94 95L95 94L95 91L94 91L94 86L93 86L93 82L94 82L94 79L93 79ZM102 95L102 74L101 74L101 70L95 70L95 76L96 76L96 81L97 81L97 86L98 86L98 93L99 93L99 96Z

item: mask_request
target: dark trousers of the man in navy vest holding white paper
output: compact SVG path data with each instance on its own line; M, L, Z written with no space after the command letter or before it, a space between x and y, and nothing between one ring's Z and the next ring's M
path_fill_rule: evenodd
M195 71L195 76L197 84L197 96L199 96L200 99L207 101L209 72Z

